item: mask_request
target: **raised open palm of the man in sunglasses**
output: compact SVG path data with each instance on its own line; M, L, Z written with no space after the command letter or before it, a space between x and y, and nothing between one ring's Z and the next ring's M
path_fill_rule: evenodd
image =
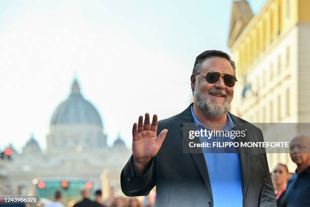
M137 123L133 125L132 154L134 167L138 174L142 174L150 159L157 155L168 132L164 129L157 137L157 126L157 115L153 115L150 124L148 113L145 114L144 123L143 117L139 116L138 127Z

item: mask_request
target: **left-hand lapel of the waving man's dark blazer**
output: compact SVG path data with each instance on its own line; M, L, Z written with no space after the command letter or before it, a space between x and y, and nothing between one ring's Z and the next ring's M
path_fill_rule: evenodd
M201 148L193 150L189 147L189 142L200 143L199 139L193 139L193 140L188 139L189 134L187 132L190 130L196 130L196 126L195 126L195 123L193 121L191 111L190 111L191 106L192 106L192 104L185 111L182 112L182 116L181 116L180 131L182 134L183 148L184 148L184 145L187 148L187 149L183 149L183 151L186 151L191 155L193 161L195 162L195 164L198 168L198 171L200 172L200 175L201 175L203 181L205 182L205 184L208 188L210 195L213 196L204 153L203 153ZM186 124L186 123L190 123L190 124ZM183 132L185 132L187 134L183 134ZM193 152L193 151L195 151L195 152Z

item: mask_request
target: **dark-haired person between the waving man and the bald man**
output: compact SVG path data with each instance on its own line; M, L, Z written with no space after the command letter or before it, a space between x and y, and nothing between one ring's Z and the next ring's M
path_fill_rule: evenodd
M278 207L286 207L285 190L289 177L290 174L287 166L282 163L277 164L272 172L272 180L274 183Z

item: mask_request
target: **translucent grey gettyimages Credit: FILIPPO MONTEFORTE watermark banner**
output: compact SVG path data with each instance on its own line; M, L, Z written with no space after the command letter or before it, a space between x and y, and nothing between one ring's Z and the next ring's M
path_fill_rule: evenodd
M301 132L310 134L310 123L242 123L212 129L183 123L183 152L288 153L290 141Z

